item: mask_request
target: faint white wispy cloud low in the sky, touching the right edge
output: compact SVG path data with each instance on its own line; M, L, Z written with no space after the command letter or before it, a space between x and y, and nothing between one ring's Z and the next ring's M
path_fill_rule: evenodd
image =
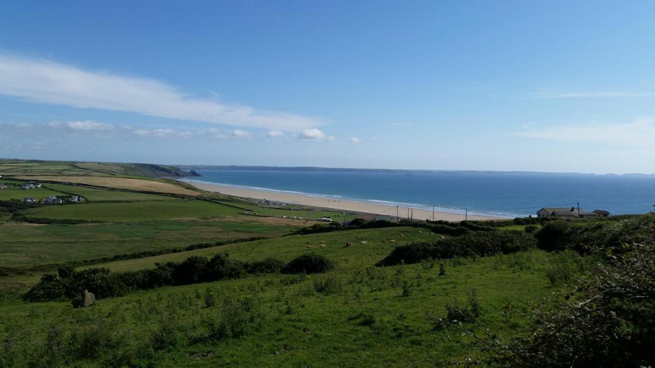
M619 124L584 124L580 126L563 125L550 128L532 128L525 132L515 133L515 135L554 141L653 147L653 142L655 142L655 118L646 117Z

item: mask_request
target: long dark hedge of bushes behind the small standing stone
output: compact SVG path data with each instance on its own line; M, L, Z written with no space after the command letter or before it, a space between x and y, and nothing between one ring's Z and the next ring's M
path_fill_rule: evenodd
M60 267L59 274L45 274L28 290L24 299L31 302L70 300L79 297L84 290L101 299L165 285L188 285L241 278L249 273L277 272L282 265L284 263L276 259L241 262L230 259L226 253L214 255L212 259L193 256L181 263L156 264L155 268L128 272L111 272L108 268L76 271L72 267ZM73 304L77 303L73 301Z

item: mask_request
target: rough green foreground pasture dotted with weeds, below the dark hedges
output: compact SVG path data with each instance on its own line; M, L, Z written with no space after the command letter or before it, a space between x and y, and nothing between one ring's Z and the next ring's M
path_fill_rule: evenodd
M347 254L350 250L342 248L339 258L356 258ZM474 288L480 325L500 339L515 336L527 325L522 315L532 301L560 291L545 276L547 257L542 251L528 251L447 260L442 262L444 276L439 276L438 267L425 265L367 269L340 263L327 275L271 274L164 287L103 299L94 308L82 309L8 300L0 304L5 316L0 335L16 337L16 342L26 337L43 340L52 327L63 333L95 331L102 338L117 334L122 338L115 346L129 354L154 349L153 338L167 326L172 345L144 354L157 367L432 367L485 353L458 344L467 338L456 329L435 329L431 315L443 316L448 303L466 304ZM334 288L319 291L325 282ZM215 304L208 304L210 294ZM228 299L240 298L252 301L251 308L259 311L256 319L237 337L208 337L211 316ZM130 333L122 335L126 330ZM114 353L84 365L111 365L105 359L119 351L105 348Z

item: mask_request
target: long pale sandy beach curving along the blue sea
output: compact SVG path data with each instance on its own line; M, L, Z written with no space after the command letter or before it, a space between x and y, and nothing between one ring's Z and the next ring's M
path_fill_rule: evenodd
M276 193L268 191L255 191L252 189L242 189L236 187L228 187L219 184L198 183L196 181L185 181L203 191L212 191L231 196L239 196L243 198L253 199L267 199L276 202L284 202L288 204L301 204L303 206L312 206L318 208L327 208L331 210L339 210L344 212L356 213L373 213L377 215L396 215L396 206L387 206L384 204L370 203L370 202L356 202L353 200L335 200L329 198L321 198L315 196L305 196L299 194ZM400 207L398 212L401 218L407 217L407 207ZM432 211L421 210L420 208L409 208L410 212L413 210L414 219L432 219ZM470 220L493 220L502 219L503 217L483 216L483 215L468 215ZM462 221L464 213L452 213L435 211L435 220L445 221Z

